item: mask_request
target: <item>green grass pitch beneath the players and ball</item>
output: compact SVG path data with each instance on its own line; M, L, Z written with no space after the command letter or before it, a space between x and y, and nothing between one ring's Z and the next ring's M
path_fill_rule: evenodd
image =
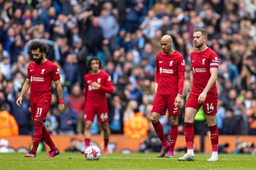
M102 155L98 161L87 161L81 153L61 153L46 158L38 153L25 158L24 153L0 153L1 170L256 170L256 156L219 154L218 162L207 162L210 155L195 154L195 161L157 158L157 153L114 153Z

